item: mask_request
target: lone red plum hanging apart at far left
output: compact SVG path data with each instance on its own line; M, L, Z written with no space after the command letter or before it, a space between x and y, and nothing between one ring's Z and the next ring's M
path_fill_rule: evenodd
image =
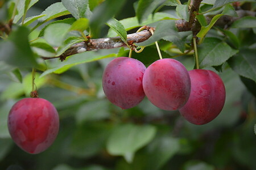
M59 115L45 99L24 98L11 108L7 125L16 145L30 154L39 154L55 141Z

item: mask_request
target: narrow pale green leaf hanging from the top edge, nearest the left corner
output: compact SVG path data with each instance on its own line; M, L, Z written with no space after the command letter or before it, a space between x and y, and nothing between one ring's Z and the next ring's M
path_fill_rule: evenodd
M14 17L13 22L17 23L19 21L20 18L22 18L22 16L24 15L25 12L25 2L26 2L26 10L28 10L31 6L33 6L36 2L38 2L39 0L31 0L29 5L27 0L19 0L17 1L17 10L18 10L18 14Z

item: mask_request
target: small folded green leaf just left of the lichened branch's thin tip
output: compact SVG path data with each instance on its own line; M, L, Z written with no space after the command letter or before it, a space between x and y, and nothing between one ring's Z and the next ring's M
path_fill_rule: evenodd
M30 45L32 47L32 50L34 50L34 52L37 53L39 56L53 57L56 54L52 46L44 42L34 42Z

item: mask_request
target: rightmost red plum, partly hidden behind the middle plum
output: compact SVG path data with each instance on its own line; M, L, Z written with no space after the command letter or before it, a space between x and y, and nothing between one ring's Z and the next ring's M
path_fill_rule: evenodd
M224 83L220 76L210 70L191 70L189 75L191 94L179 112L192 124L207 124L216 118L224 107Z

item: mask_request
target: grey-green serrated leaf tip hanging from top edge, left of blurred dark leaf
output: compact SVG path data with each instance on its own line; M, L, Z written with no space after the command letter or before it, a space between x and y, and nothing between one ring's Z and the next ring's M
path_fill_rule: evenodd
M76 18L86 18L88 0L61 0L65 8Z

